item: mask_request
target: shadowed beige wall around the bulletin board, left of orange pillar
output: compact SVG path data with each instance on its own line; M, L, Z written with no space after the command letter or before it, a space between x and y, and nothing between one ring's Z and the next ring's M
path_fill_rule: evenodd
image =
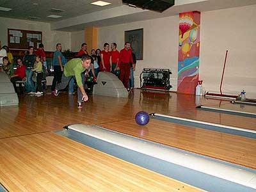
M31 31L42 31L45 51L55 51L56 44L62 44L62 50L71 49L71 35L69 32L51 31L51 26L46 22L29 20L8 19L0 17L0 40L2 45L8 45L8 28Z

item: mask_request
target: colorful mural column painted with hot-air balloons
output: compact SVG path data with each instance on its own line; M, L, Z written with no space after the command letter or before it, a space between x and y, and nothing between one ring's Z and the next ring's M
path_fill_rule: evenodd
M200 12L180 13L178 93L195 94L199 76Z

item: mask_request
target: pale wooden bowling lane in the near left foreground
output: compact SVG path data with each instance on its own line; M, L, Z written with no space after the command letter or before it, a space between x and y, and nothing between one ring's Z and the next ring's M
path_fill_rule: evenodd
M52 132L0 140L9 191L203 191Z

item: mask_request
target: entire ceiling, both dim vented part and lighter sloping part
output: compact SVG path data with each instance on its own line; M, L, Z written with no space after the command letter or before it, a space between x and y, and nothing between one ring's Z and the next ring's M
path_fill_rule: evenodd
M10 12L0 11L0 17L50 22L53 30L79 31L88 26L110 26L169 17L191 10L206 12L256 4L256 0L175 0L175 6L163 13L157 13L123 5L122 0L105 0L111 4L102 7L90 4L94 1L97 0L0 0L0 6L13 8ZM54 13L51 12L51 8L65 11ZM47 15L61 15L62 17L51 19Z

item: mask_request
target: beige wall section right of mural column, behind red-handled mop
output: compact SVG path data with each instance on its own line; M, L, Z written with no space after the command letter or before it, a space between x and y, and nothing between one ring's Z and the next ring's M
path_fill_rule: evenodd
M256 98L256 6L204 12L201 15L200 79L207 90L219 90L228 50L224 93L246 91Z

